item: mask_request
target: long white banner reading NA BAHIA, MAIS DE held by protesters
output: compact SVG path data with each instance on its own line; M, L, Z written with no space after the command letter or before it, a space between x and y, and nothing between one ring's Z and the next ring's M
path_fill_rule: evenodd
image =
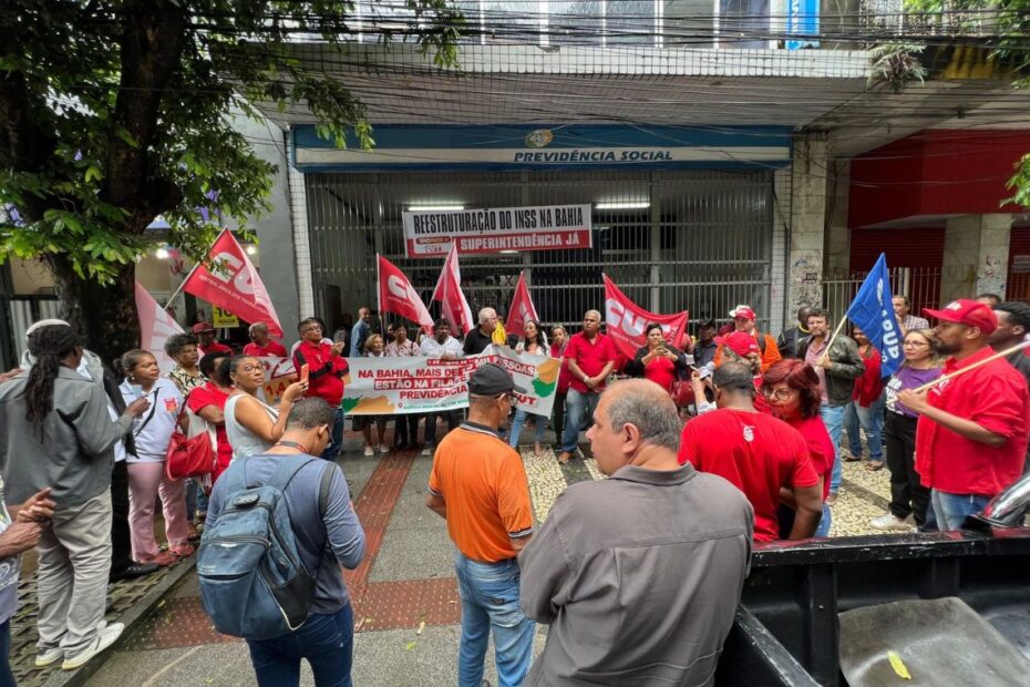
M468 376L481 365L496 362L512 373L518 408L549 416L562 361L516 353L507 346L490 346L478 356L437 358L348 358L343 412L380 416L437 412L468 407Z

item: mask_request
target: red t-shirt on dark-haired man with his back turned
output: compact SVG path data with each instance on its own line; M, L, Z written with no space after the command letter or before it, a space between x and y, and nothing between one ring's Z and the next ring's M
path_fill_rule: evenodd
M690 461L744 492L754 509L756 542L780 536L781 486L818 483L801 432L760 412L724 408L694 418L683 428L679 461Z

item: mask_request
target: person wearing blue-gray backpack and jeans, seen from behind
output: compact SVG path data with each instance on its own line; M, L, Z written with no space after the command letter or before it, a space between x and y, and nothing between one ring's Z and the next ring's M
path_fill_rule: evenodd
M290 409L264 454L234 461L212 491L197 555L204 609L215 628L247 640L261 687L351 685L354 617L340 566L364 557L343 472L319 459L334 410L320 398Z

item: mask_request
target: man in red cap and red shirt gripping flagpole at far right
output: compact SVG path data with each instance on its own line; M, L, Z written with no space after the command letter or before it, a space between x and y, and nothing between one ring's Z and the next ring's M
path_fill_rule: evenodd
M998 327L990 306L959 299L937 318L938 351L950 356L943 377L992 355L988 337ZM947 379L928 391L898 393L898 402L919 413L916 471L941 530L958 530L1021 474L1030 435L1027 381L1003 359Z

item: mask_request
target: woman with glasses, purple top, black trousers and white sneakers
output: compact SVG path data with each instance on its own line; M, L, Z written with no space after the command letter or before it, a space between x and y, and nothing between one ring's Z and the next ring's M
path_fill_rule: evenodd
M890 471L890 512L869 523L877 530L910 532L909 515L920 532L936 532L930 490L923 486L916 472L916 424L919 416L896 402L904 389L915 389L940 377L940 357L933 329L913 329L902 345L905 360L887 382L887 419L884 444Z

